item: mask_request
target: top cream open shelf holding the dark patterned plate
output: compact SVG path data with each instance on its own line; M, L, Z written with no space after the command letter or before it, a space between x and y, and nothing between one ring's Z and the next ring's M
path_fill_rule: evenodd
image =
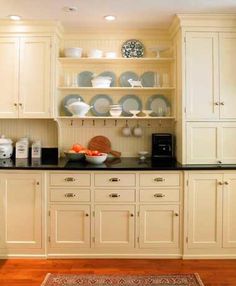
M175 61L174 58L114 58L114 59L107 59L107 58L65 58L60 57L58 61L62 64L79 64L79 63L96 63L96 64L103 64L103 63L167 63Z

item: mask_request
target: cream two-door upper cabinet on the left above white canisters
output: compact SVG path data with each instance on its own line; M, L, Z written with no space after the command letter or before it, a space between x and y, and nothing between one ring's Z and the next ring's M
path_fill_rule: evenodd
M52 38L0 36L0 117L52 117Z

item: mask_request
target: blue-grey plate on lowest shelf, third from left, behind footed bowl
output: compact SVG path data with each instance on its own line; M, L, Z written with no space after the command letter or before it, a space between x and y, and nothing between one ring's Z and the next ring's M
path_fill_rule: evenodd
M142 102L137 95L125 95L119 100L123 116L132 116L130 110L142 110Z

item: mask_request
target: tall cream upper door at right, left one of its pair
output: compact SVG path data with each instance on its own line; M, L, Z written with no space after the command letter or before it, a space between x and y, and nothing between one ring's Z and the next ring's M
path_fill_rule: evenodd
M218 33L186 33L186 117L219 118Z

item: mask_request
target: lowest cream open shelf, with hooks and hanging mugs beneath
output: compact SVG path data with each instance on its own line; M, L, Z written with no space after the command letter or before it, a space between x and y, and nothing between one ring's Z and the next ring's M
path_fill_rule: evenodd
M57 119L69 119L69 120L74 120L74 119L81 119L81 120L85 120L85 119L92 119L92 120L96 120L96 119L103 119L103 120L109 120L109 119L115 119L115 120L174 120L175 117L173 116L145 116L145 117L134 117L134 116L119 116L119 117L112 117L112 116L83 116L83 117L74 117L74 116L58 116L56 117Z

